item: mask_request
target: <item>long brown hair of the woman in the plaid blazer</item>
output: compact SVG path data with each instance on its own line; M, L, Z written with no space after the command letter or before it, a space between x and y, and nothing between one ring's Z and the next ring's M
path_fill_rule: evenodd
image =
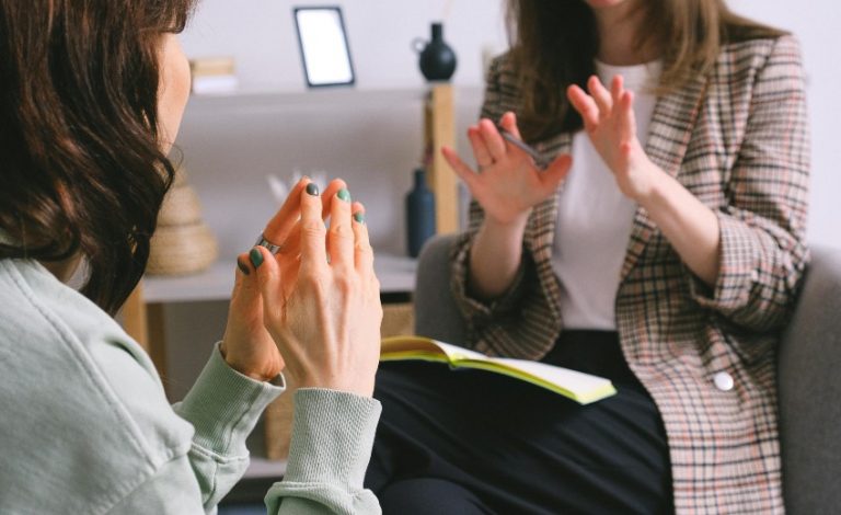
M645 0L640 9L646 31L636 47L653 43L665 50L656 93L705 73L722 45L784 34L734 14L724 0ZM564 91L569 84L584 88L596 73L599 33L592 9L585 0L508 0L507 21L509 59L522 92L523 138L535 141L581 128Z

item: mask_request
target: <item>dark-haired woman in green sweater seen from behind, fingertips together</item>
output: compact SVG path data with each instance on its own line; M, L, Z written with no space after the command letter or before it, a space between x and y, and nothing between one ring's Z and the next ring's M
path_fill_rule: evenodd
M382 309L344 182L302 180L239 256L224 336L183 402L108 314L172 182L192 9L0 0L0 513L216 512L284 367L301 388L269 513L379 512L361 478Z

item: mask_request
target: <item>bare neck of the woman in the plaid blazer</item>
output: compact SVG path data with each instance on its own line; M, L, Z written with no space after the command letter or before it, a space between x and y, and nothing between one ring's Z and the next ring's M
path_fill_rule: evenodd
M642 65L656 59L659 53L654 45L646 43L637 48L637 34L643 20L643 10L633 1L597 9L596 22L600 35L598 59L613 66Z

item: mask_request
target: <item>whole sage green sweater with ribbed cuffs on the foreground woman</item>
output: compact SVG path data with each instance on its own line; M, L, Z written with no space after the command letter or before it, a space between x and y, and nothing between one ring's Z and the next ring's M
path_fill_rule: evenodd
M0 513L199 514L249 464L245 437L283 387L228 367L217 348L170 405L143 350L41 264L0 260ZM270 514L379 513L362 489L376 400L296 393Z

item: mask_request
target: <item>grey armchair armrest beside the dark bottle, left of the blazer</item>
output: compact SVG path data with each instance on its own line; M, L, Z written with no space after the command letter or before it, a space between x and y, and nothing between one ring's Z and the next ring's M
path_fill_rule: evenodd
M450 251L457 238L436 236L420 251L414 294L415 333L463 345L466 328L450 288Z

